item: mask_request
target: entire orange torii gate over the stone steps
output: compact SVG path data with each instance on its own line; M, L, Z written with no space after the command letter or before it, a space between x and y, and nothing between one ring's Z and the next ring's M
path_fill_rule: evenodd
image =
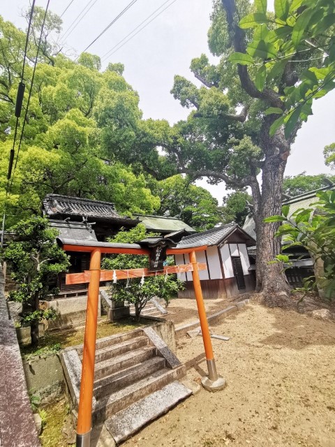
M163 238L158 240L158 244ZM143 244L117 244L110 242L92 242L68 240L62 237L57 238L57 242L61 244L65 251L82 251L91 254L89 271L82 273L66 274L66 284L82 284L89 283L88 299L87 299L87 316L84 334L84 349L82 356L82 377L80 382L80 399L77 420L77 440L76 446L89 447L91 434L91 413L92 399L94 389L94 365L96 355L96 327L98 321L98 295L100 281L108 281L113 279L116 274L117 279L127 279L135 277L155 276L156 274L172 274L181 272L192 272L193 286L195 298L198 306L198 314L200 319L200 327L202 331L202 339L204 342L204 351L206 354L208 376L202 379L202 385L207 390L221 390L225 386L225 380L218 376L216 372L216 363L214 353L211 346L211 336L207 316L204 309L204 300L202 298L202 290L200 285L199 270L207 269L205 264L197 263L195 255L196 251L204 251L207 246L182 248L167 248L165 241L161 243L164 248L164 254L189 254L190 263L184 265L171 265L162 267L163 270L152 271L147 268L131 269L131 270L101 270L101 254L134 254L152 256L153 249L143 247ZM157 259L157 251L154 256ZM152 262L150 263L152 265ZM158 268L160 268L158 266Z

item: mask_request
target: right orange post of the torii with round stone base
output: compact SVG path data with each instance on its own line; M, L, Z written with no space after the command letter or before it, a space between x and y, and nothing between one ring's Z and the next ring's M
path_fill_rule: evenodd
M211 346L211 335L209 333L206 311L204 309L204 298L202 297L198 263L195 256L195 251L191 251L190 253L190 262L193 265L193 287L195 292L195 299L197 300L200 327L202 332L202 339L204 342L204 352L206 354L208 368L208 377L202 378L202 386L204 386L204 388L209 391L222 390L225 387L226 383L225 379L223 379L221 376L218 376L218 373L216 372L216 363L214 359L213 347Z

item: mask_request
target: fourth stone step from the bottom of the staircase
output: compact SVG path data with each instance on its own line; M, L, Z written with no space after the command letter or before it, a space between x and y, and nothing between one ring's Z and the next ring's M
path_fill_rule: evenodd
M114 372L144 362L144 360L148 360L154 356L156 356L155 346L142 346L142 348L135 349L135 351L129 351L120 356L109 358L96 364L94 378L96 380L102 379Z

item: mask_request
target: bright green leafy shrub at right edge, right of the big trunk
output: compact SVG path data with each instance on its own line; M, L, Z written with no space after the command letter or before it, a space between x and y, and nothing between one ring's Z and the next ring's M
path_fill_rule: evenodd
M315 285L325 291L325 296L335 296L335 191L320 191L316 209L297 210L287 217L287 210L282 216L272 216L265 221L285 221L276 235L283 237L283 250L290 247L304 247L315 262L315 277L309 277L304 284L304 291L313 290ZM286 214L286 215L284 215ZM276 256L278 261L287 262L283 255ZM320 268L322 261L323 268Z

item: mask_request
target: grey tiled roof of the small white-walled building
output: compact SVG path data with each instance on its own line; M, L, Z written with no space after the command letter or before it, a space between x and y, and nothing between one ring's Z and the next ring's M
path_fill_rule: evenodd
M225 239L227 239L227 237L236 230L244 233L237 223L228 223L228 225L212 228L211 230L202 231L201 233L195 233L193 235L183 237L177 245L177 248L185 246L200 247L202 245L218 245L221 244L221 242L224 242ZM244 233L244 235L245 234L246 233ZM253 242L253 244L255 243L254 241L251 242Z

